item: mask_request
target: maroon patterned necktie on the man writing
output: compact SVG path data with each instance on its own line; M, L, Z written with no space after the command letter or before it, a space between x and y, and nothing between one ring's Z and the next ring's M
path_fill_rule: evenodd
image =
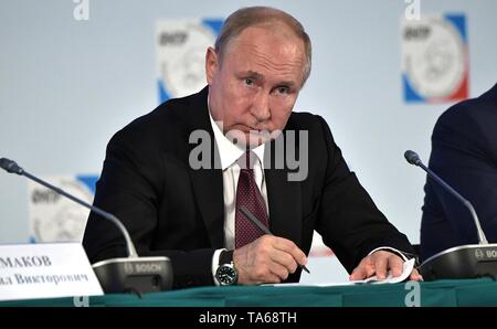
M255 183L254 170L252 169L255 160L256 156L251 151L246 151L239 160L241 170L236 187L235 248L240 248L264 235L261 229L240 211L240 206L246 206L261 223L268 227L266 203Z

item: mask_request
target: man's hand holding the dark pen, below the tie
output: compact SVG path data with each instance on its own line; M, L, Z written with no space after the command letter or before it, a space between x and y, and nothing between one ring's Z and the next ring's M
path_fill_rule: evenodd
M235 250L233 262L240 285L277 284L285 280L307 257L295 243L273 235L263 235Z

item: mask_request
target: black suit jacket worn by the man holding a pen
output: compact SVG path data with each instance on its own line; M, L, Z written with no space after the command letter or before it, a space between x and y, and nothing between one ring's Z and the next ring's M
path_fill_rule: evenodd
M212 255L224 243L222 171L189 166L190 151L197 147L189 144L189 136L197 129L208 131L212 159L219 160L207 96L204 88L169 100L118 131L107 146L94 201L124 222L140 255L171 258L176 287L212 285ZM321 117L293 113L281 138L287 130L308 130L308 177L288 181L288 169L265 163L274 235L308 253L317 230L349 272L379 246L412 252L349 171ZM83 244L92 263L125 255L120 234L94 213ZM299 276L297 272L288 280Z

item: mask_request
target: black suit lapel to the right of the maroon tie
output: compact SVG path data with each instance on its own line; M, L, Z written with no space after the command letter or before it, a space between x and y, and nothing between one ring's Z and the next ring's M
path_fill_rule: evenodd
M283 138L283 135L278 138ZM264 176L269 205L269 230L274 235L292 240L296 245L300 246L300 182L288 181L286 164L284 164L283 169L276 167L275 141L267 144L267 146L264 155Z

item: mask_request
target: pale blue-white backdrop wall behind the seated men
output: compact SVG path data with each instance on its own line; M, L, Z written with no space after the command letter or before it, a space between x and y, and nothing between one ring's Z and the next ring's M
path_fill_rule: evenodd
M421 14L464 13L469 93L497 81L497 1L420 0ZM158 105L155 23L225 18L266 4L299 19L314 44L314 71L296 110L324 116L350 167L399 230L419 242L424 174L438 115L450 106L406 105L401 84L403 0L73 0L0 2L0 157L36 174L99 173L110 136ZM0 243L27 242L28 188L0 172Z

